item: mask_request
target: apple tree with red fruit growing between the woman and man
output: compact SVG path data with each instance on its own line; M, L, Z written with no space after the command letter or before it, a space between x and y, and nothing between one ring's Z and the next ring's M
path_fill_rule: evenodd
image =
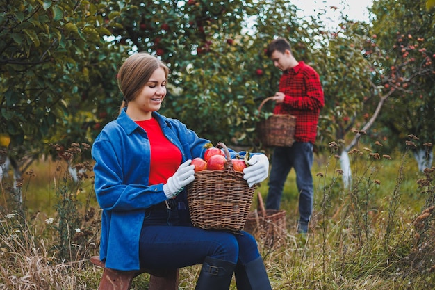
M258 97L245 19L253 1L131 1L117 18L113 45L147 51L170 67L161 113L179 118L213 143L240 143ZM120 102L113 104L119 106Z

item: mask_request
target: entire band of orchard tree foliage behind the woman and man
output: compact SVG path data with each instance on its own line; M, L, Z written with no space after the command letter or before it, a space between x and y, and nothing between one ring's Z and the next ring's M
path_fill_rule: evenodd
M10 136L8 154L17 160L57 154L51 143L92 143L117 116L117 68L134 51L154 54L171 69L161 113L213 143L261 149L254 128L272 104L261 115L257 108L280 74L264 49L277 36L320 74L326 106L319 150L371 118L377 124L368 126L370 134L391 148L410 133L434 141L434 8L424 0L375 1L371 24L343 13L328 30L320 14L300 19L284 0L0 5L0 134ZM378 117L375 108L386 95Z

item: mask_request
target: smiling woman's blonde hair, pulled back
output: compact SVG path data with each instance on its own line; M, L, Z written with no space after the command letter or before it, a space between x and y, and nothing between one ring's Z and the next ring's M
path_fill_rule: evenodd
M158 68L165 70L165 76L169 74L167 66L155 56L146 52L138 52L132 54L121 65L117 75L118 87L120 88L124 99L122 100L120 113L122 108L128 105L130 101L136 98L140 90L149 81L149 78Z

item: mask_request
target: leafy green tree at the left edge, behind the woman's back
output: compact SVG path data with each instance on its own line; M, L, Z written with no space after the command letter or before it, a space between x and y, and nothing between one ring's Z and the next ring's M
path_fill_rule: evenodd
M104 103L115 97L124 51L105 40L119 12L99 1L6 0L0 8L0 134L8 139L0 179L8 165L17 179L39 156L92 143L112 113Z

